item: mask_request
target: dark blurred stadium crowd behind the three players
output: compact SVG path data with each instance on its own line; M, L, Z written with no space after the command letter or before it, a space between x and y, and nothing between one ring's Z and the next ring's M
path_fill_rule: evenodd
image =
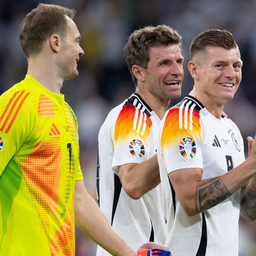
M247 153L246 136L254 136L256 132L255 0L42 0L40 3L61 4L77 11L76 24L85 54L78 64L79 76L67 81L62 93L77 115L84 182L95 199L99 127L108 111L134 91L122 49L127 36L146 25L167 24L182 35L185 58L182 97L193 86L186 68L193 37L210 28L232 32L244 63L243 79L235 99L225 106L225 113L241 130ZM26 74L19 25L37 4L35 0L0 0L0 93ZM81 234L79 228L76 232L76 255L95 255L95 243ZM256 221L241 219L239 243L239 256L256 255Z

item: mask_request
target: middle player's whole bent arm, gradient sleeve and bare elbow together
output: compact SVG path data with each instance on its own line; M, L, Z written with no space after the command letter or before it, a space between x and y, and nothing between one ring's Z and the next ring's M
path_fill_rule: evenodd
M122 188L133 199L139 199L160 182L157 156L153 156L154 118L151 119L146 107L136 108L131 100L141 101L132 96L118 114L111 129L113 140L112 168L120 178ZM140 106L143 106L141 101ZM152 121L153 120L153 121Z

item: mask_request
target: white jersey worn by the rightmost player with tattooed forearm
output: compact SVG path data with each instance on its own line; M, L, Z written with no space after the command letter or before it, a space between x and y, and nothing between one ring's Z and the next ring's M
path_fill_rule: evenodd
M202 179L209 179L241 164L244 146L236 124L226 117L215 118L188 96L166 112L160 131L157 156L168 216L167 245L173 255L238 255L240 191L207 211L188 216L168 180L168 174L179 169L202 168Z

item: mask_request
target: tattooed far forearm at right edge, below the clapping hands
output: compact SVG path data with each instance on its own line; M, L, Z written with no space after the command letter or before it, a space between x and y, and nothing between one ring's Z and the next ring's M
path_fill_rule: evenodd
M241 188L241 214L248 220L256 219L256 190L248 184Z

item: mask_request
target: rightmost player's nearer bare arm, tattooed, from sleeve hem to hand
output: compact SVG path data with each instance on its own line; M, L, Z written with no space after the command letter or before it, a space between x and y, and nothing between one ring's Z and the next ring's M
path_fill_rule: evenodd
M255 173L256 142L253 140L251 154L248 159L224 175L202 180L202 170L200 168L188 168L169 173L169 179L184 210L189 216L194 216L220 204L247 183L251 185L247 186L248 193L244 195L249 195L252 187L255 188L255 186L252 186L252 184L255 184ZM253 196L251 200L253 205ZM248 198L245 201L249 202Z

